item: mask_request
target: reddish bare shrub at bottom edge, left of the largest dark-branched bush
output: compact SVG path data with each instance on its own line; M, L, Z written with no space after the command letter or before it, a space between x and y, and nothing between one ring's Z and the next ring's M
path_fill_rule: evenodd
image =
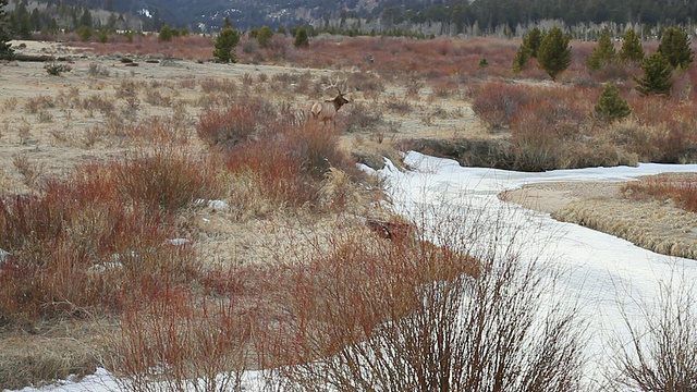
M234 299L199 301L189 289L166 286L142 308L124 311L109 367L123 389L239 390L250 336L241 309Z

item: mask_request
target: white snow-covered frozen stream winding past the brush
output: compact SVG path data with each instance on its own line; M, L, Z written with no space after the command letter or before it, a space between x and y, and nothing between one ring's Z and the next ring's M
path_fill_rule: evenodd
M570 302L578 302L588 321L589 376L608 365L608 339L623 330L621 307L629 317L638 315L638 304L657 297L659 282L677 271L697 279L697 261L658 255L612 235L554 221L547 213L526 210L497 198L505 189L529 183L559 181L626 181L661 172L697 172L697 166L640 164L638 168L592 168L522 173L494 169L462 168L455 161L409 152L406 162L415 170L400 172L387 167L382 174L391 185L393 201L404 215L423 215L439 206L460 207L464 213L491 211L492 219L519 228L525 254L539 256L566 271L565 286L559 291ZM444 208L441 210L445 210ZM501 211L505 211L502 213ZM452 213L452 212L451 212ZM484 215L482 215L484 216ZM428 228L426 228L428 229ZM485 243L490 238L481 238ZM505 241L504 238L498 238ZM484 246L484 245L482 245ZM254 378L254 375L247 375ZM62 382L41 391L113 391L117 383L105 371L81 382ZM255 382L248 389L257 390ZM23 391L36 391L24 389Z

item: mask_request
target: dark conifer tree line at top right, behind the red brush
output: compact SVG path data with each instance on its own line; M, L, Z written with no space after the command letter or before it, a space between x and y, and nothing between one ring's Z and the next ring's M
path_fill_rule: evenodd
M344 2L348 7L350 2ZM515 30L545 20L567 26L579 23L689 24L697 20L697 2L682 0L387 0L371 10L357 7L325 11L328 19L379 19L387 28L404 23L452 24L463 33L475 24L485 32L501 26Z

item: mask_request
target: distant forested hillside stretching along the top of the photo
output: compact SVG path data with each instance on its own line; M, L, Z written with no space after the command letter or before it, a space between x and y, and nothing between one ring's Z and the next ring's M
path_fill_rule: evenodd
M26 0L24 0L26 2ZM428 34L519 35L539 21L567 26L612 22L643 26L697 21L697 1L683 0L39 0L135 15L140 26L163 24L216 32L229 17L243 30L268 25L310 24L320 28ZM12 7L12 5L11 5ZM60 5L59 5L60 7Z

